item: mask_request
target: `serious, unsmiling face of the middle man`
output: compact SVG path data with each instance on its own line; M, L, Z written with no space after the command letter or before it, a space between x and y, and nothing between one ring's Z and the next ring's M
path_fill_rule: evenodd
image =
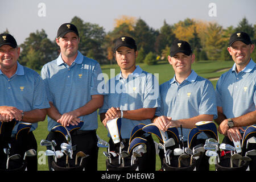
M135 60L138 55L138 51L134 51L129 47L121 46L115 51L115 60L121 69L126 71L134 71L136 68Z

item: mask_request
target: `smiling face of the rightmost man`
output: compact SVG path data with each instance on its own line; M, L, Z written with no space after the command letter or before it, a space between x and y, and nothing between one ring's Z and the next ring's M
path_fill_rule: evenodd
M228 51L232 56L232 59L241 67L245 67L249 63L253 49L253 44L247 45L241 41L236 41L230 47L228 47Z

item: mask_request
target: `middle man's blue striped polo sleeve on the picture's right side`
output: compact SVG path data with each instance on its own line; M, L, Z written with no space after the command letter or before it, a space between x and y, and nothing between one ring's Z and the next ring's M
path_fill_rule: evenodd
M157 78L148 73L146 76L146 88L144 89L143 108L155 108L160 106L159 84Z

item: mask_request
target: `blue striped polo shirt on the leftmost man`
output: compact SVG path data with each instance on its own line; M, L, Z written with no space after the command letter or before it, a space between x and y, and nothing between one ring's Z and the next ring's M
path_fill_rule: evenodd
M16 73L11 78L0 70L0 105L13 106L23 111L48 108L49 102L40 75L30 68L23 67L18 61L17 64ZM14 127L14 134L17 126ZM31 131L37 127L38 123L32 123Z

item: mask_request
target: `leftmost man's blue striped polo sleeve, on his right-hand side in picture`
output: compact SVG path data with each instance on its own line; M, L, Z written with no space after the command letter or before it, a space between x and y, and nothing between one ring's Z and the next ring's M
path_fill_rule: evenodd
M49 102L46 96L46 89L44 82L40 75L35 75L35 90L32 109L46 109L49 108Z

